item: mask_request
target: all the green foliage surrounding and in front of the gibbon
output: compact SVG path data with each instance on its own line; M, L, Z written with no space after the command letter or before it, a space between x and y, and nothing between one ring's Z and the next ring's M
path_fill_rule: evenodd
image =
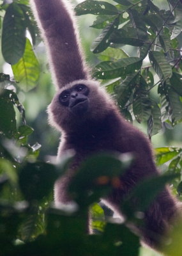
M64 175L73 156L64 157L58 165L40 161L41 145L28 142L33 128L26 124L25 110L17 95L20 90L32 90L40 76L33 47L26 38L28 29L36 45L36 27L28 3L4 0L0 5L2 53L12 65L16 80L0 73L1 255L137 256L139 237L128 225L130 221L142 225L143 211L167 182L181 198L182 148L156 149L156 163L163 164L165 175L143 180L131 191L121 204L125 212L122 224L114 218L110 223L98 201L116 188L131 156L126 160L126 156L102 154L87 159L70 184L75 204L52 207L54 181ZM127 120L132 122L134 118L148 124L149 138L162 127L182 121L182 3L167 3L169 10L161 10L151 0L86 0L75 8L77 15L97 15L91 27L102 29L92 45L101 61L93 68L93 77L107 82L107 92L118 100ZM132 51L126 51L126 45L132 46ZM144 60L146 56L150 62ZM17 93L8 86L14 86ZM90 208L92 227L99 234L87 234ZM176 244L181 243L178 232L174 229L172 234ZM167 255L178 256L178 247L167 244L164 250Z

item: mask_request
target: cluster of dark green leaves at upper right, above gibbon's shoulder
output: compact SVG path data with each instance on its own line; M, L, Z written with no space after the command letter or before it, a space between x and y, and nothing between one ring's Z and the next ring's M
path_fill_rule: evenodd
M110 4L112 6L110 6L110 13L95 12L97 5L101 9L107 10L105 2L102 1L84 1L75 10L77 15L87 13L98 15L92 27L103 30L94 42L96 48L94 47L92 49L93 52L102 52L106 47L112 47L110 48L108 58L105 58L106 61L98 63L93 69L93 76L97 79L120 78L120 84L112 85L112 92L115 91L117 96L119 93L119 106L122 109L130 106L128 111L131 114L134 112L135 118L139 116L136 118L138 122L147 121L149 135L151 136L160 130L159 127L161 125L159 122L153 122L153 117L149 113L149 109L159 108L153 111L155 111L155 120L160 120L160 111L163 113L163 100L170 105L167 108L165 122L170 121L174 125L181 120L181 113L179 113L181 112L179 111L181 109L179 96L181 96L180 88L182 88L182 81L180 79L181 45L178 39L180 38L179 27L181 26L180 11L182 4L181 1L176 1L175 3L169 1L169 11L160 10L151 0L116 2L118 3L117 5L114 3ZM114 8L117 8L118 13L115 12L116 10ZM119 26L115 26L114 29L110 30L111 24L113 24L117 17L119 19ZM104 39L105 41L103 41ZM132 54L113 60L112 52L113 56L115 56L116 48L122 49L124 45L134 46ZM136 52L139 57L138 61L137 58L133 59L136 56ZM146 67L144 58L147 55L149 56L151 65ZM135 77L133 72L137 70L139 70L140 76L145 69L148 70L150 76L150 78L149 76L143 77L146 84L148 84L148 78L150 81L154 80L153 76L155 76L155 72L158 75L158 83L153 84L151 87L146 86L144 92L143 89L139 88L140 86L143 87L142 84L144 83L138 83L139 79L133 81L132 76ZM155 72L153 72L153 69ZM132 74L130 75L130 73ZM176 93L171 91L170 97L168 93L163 93L163 95L160 93L158 99L153 102L153 93L151 92L153 92L152 88L155 86L165 88L171 86ZM128 96L126 97L126 95ZM140 98L141 95L143 95L142 98ZM148 99L144 100L146 96ZM158 103L160 99L161 102ZM122 112L125 112L125 109Z

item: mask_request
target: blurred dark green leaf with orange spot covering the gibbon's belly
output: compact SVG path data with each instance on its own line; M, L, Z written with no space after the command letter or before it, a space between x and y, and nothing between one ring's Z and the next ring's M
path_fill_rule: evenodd
M126 157L127 158L127 157ZM130 165L131 158L110 154L98 154L82 163L70 183L70 193L79 205L88 206L101 196L108 195L112 187L118 186L119 176ZM112 170L112 172L110 172ZM93 190L93 193L90 191Z

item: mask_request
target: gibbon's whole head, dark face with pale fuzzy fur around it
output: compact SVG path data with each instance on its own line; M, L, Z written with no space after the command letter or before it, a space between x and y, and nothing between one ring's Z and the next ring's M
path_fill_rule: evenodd
M67 84L48 107L50 124L61 131L73 131L86 120L102 120L113 102L97 81L79 80Z

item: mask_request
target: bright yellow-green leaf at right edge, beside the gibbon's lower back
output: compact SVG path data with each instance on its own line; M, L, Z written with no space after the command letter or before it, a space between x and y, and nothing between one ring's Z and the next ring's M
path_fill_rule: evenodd
M182 149L175 147L155 148L156 163L158 165L164 164L167 161L172 160L174 157L178 156L181 152Z

